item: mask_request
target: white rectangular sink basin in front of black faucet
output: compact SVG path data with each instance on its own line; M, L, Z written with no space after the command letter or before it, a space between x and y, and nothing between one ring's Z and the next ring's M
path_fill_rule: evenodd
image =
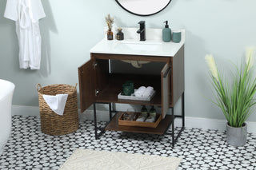
M116 45L116 48L134 51L157 51L161 49L161 45L160 42L120 42Z

